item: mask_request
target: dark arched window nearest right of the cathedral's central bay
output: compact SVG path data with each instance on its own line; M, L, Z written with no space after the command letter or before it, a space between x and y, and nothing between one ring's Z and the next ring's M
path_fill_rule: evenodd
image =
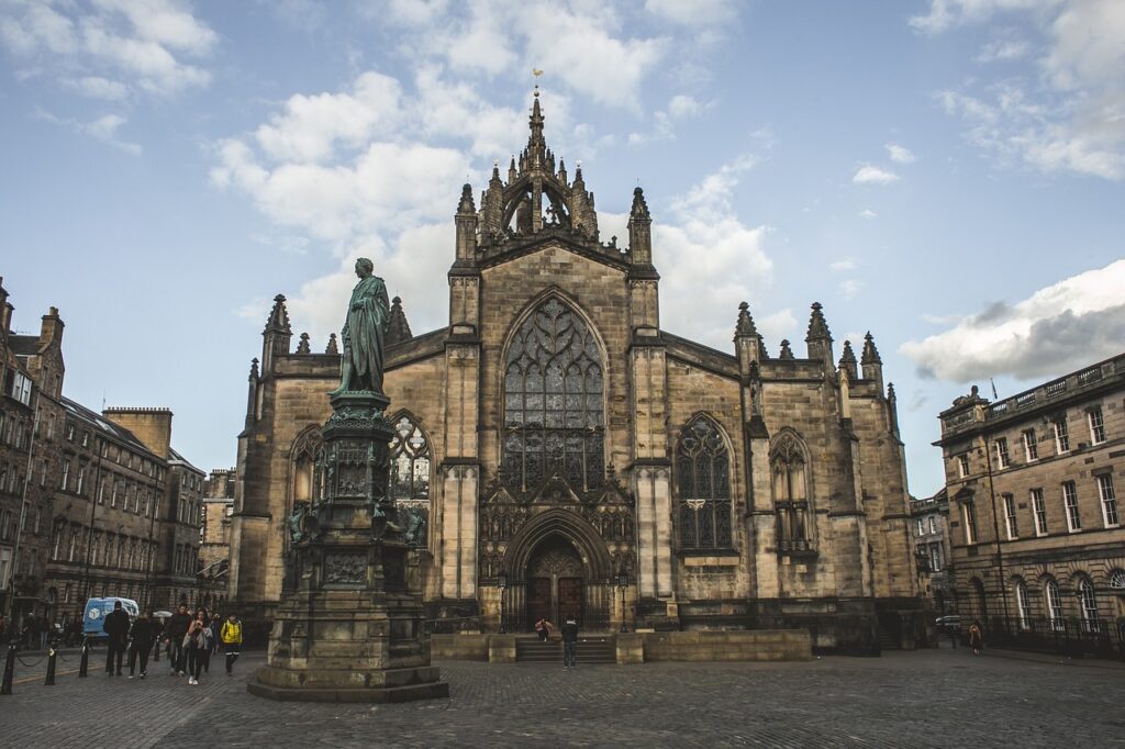
M696 416L676 445L681 549L729 549L730 455L714 423Z

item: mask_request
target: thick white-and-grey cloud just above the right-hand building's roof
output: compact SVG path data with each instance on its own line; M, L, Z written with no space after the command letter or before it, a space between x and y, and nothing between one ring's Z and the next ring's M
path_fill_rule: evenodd
M954 382L1062 374L1120 353L1123 288L1125 260L1118 260L1014 305L994 303L943 333L904 343L901 351L920 376Z

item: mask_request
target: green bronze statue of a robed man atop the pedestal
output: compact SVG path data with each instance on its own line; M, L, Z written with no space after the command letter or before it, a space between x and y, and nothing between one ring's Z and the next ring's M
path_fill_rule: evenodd
M348 319L341 339L344 344L340 371L340 387L331 395L342 392L382 392L382 350L390 324L390 303L382 279L372 276L375 264L367 258L356 261L359 283L352 290Z

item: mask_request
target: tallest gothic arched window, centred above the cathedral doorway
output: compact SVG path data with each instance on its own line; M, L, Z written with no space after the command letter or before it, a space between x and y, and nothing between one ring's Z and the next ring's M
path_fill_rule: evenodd
M575 491L601 486L602 355L586 323L547 299L513 334L504 364L504 481L518 491L552 476Z

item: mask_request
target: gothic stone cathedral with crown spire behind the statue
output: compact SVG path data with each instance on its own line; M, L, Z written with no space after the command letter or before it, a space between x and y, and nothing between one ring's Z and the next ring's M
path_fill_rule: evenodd
M603 241L580 165L547 147L538 93L530 128L479 206L461 192L449 325L415 335L400 300L390 308L390 490L428 521L431 616L495 628L503 611L510 631L572 614L587 630L800 626L839 648L874 647L882 624L910 641L903 450L872 337L837 361L814 304L803 355L788 341L771 355L738 300L731 350L666 331L640 188L628 244ZM268 617L287 585L287 518L324 479L340 355L334 337L294 350L282 296L263 336L231 577L248 615Z

